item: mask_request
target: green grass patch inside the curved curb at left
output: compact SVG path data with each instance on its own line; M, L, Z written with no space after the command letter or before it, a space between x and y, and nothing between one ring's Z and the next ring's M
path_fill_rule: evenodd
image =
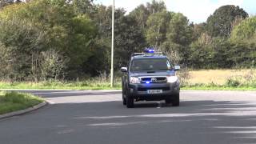
M18 92L0 92L0 114L24 110L43 102L42 98Z

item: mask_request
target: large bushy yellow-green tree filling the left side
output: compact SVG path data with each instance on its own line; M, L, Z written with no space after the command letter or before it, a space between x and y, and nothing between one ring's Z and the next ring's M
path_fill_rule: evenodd
M29 77L34 72L31 63L37 63L35 67L40 69L42 52L54 50L60 52L58 58L70 59L66 70L70 77L75 77L93 54L94 24L86 14L74 13L74 7L65 0L6 6L0 21L0 42L18 62L19 68L14 68L17 74L24 71Z

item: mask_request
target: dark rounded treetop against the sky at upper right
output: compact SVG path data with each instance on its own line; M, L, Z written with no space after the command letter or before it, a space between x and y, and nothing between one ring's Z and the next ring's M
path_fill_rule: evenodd
M239 6L226 5L221 6L214 11L207 19L207 31L212 37L230 38L230 33L233 28L233 22L239 18L247 18L248 14Z

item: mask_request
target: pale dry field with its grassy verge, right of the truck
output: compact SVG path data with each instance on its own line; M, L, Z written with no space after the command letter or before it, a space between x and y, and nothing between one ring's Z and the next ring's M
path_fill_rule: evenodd
M185 90L256 90L256 69L191 70L181 74Z

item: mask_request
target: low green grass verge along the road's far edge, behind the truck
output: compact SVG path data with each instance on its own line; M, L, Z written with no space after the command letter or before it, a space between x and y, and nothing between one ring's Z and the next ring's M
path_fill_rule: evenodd
M228 81L225 84L196 83L183 84L182 90L256 90L255 83L239 83ZM113 88L110 82L0 82L0 89L29 89L29 90L121 90L121 82L115 82Z

